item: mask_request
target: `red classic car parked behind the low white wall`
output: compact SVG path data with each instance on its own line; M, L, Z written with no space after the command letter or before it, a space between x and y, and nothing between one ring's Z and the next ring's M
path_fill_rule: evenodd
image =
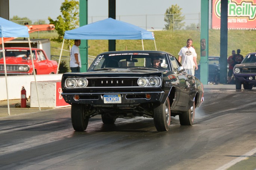
M30 48L7 47L4 50L7 75L33 74ZM57 73L58 63L54 60L49 60L43 50L32 48L32 53L37 75ZM3 48L0 48L0 76L4 76Z

